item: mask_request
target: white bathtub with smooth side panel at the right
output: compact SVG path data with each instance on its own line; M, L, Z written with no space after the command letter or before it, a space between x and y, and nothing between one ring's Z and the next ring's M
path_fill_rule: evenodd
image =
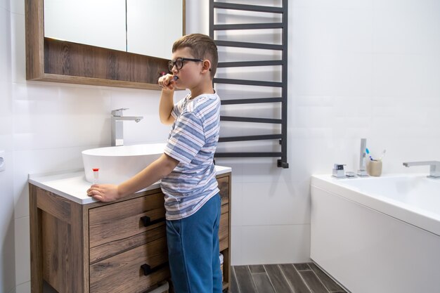
M439 293L440 180L312 176L311 259L353 293Z

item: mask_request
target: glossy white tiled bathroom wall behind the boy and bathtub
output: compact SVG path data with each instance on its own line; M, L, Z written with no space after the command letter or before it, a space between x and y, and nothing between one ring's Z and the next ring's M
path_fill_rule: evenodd
M207 1L187 4L187 32L207 33L206 15L198 18ZM373 152L387 149L384 173L427 173L401 162L440 160L440 1L297 0L289 13L290 168L278 169L275 159L217 160L233 167L234 265L309 260L309 177L330 173L335 162L356 169L361 137ZM82 167L81 150L110 143L114 108L144 116L126 124L126 143L168 134L158 122L157 91L27 82L24 24L24 1L0 0L6 293L30 292L27 174Z

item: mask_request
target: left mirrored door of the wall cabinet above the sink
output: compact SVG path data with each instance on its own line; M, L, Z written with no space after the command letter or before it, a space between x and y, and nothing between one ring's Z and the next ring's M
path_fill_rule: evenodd
M125 0L44 0L44 37L126 51Z

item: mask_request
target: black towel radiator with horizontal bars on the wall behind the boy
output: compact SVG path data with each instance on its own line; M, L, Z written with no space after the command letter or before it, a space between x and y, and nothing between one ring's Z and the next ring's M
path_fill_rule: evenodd
M254 11L261 13L280 13L282 22L273 23L249 23L249 24L215 24L214 15L216 9L234 10L234 11ZM240 41L227 41L216 39L214 32L219 30L264 30L280 29L281 44L260 44ZM280 51L282 58L280 60L259 60L259 61L241 61L241 62L222 62L219 60L218 67L250 67L250 66L280 66L281 82L267 82L247 79L222 79L214 78L214 84L238 84L245 86L270 86L281 89L280 97L269 98L234 98L231 100L221 100L221 105L239 105L253 103L281 103L281 119L268 119L257 117L231 117L221 116L221 121L233 122L253 122L280 124L279 134L261 134L253 136L230 136L220 137L219 143L235 141L257 141L257 140L278 140L281 146L280 152L216 152L215 157L280 157L277 160L277 166L288 168L287 163L287 0L282 0L281 7L258 6L247 4L233 4L209 0L209 35L214 39L217 46L265 49Z

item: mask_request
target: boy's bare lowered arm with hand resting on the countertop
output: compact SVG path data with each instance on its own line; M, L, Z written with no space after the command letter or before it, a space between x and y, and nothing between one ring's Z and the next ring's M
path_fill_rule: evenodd
M93 184L91 188L87 190L87 195L101 202L119 200L122 197L135 193L159 181L171 173L177 164L179 164L178 160L169 157L169 155L162 154L159 159L156 159L153 163L149 164L148 167L129 178L129 180L119 185Z

